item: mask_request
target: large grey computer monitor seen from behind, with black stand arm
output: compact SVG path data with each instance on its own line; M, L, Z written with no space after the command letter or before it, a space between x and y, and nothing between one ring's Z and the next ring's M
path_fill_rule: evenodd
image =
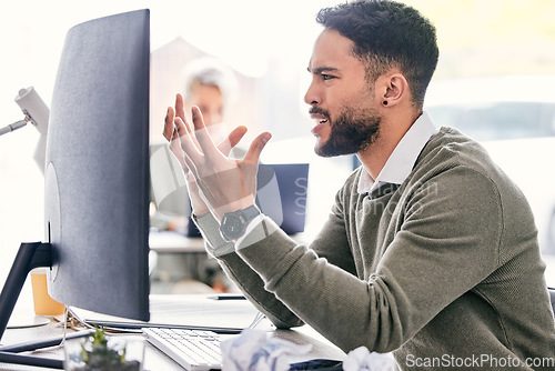
M149 74L149 10L68 32L49 120L46 241L22 245L12 268L24 280L31 268L49 265L54 300L143 321L150 291ZM20 291L21 277L12 271L0 297L1 311L9 311L1 314L0 338Z

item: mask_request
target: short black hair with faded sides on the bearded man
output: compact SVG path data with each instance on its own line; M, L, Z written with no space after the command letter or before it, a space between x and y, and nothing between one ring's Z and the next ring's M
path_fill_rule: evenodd
M369 81L398 68L413 103L423 106L440 50L435 27L416 9L392 0L360 0L322 9L316 21L353 41L353 56L366 63Z

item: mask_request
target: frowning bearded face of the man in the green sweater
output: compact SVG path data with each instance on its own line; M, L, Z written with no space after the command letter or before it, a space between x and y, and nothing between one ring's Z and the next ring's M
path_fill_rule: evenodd
M314 43L304 101L312 106L315 151L320 156L356 153L377 138L381 117L364 63L352 54L353 41L325 29Z

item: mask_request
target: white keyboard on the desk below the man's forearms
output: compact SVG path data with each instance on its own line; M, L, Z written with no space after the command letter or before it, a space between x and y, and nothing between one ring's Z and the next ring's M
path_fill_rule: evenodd
M143 328L148 341L186 370L221 370L220 335L212 331Z

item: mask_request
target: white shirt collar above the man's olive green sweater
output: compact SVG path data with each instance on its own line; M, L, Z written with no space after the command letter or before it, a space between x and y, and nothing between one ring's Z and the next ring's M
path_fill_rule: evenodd
M437 128L432 118L427 112L423 112L397 143L375 180L367 171L363 171L359 180L359 193L370 193L384 183L403 183L424 146L436 132Z

